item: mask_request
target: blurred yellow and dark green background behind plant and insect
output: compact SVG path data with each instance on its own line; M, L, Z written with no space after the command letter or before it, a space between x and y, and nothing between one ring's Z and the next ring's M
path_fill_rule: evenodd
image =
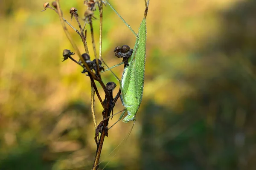
M73 48L57 14L41 12L44 2L0 0L0 170L90 170L90 81L75 63L61 62L63 49ZM110 2L137 31L144 1ZM69 8L81 18L87 8L83 0L61 6L69 21ZM133 47L135 37L108 6L103 16L102 55L115 65L114 47ZM256 0L151 0L147 28L136 125L125 142L132 123L109 131L100 168L110 161L105 170L255 169ZM89 30L87 37L93 54ZM122 66L113 71L121 77ZM110 72L102 77L116 82ZM122 108L118 100L115 112Z

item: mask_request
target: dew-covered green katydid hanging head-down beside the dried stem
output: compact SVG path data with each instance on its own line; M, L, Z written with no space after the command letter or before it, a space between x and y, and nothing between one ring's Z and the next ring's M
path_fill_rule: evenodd
M113 6L111 6L108 0L105 1L137 37L133 54L128 59L128 65L125 65L121 81L119 80L121 89L121 101L122 105L125 106L125 110L122 112L119 120L122 119L125 112L127 111L128 115L125 116L125 118L122 120L125 123L132 120L135 122L136 113L140 108L143 96L146 57L146 17L148 13L149 0L148 2L146 0L144 1L145 12L143 20L140 23L138 33L135 33L135 31L128 25L128 23L125 22L125 20L113 8Z

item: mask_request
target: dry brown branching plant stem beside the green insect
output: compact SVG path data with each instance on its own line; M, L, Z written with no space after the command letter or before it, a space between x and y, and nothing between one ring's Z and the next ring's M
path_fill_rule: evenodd
M103 3L102 3L102 1L100 1L100 4L99 4L99 2L97 2L97 3L98 3L98 6L99 6L99 12L100 12L100 40L99 40L100 41L100 45L99 45L100 48L99 48L99 56L100 56L101 60L103 61L103 59L102 59L102 14L103 14L103 8L102 7L103 7ZM96 65L97 65L97 69L95 71L96 73L93 73L93 71L88 66L87 62L85 62L84 58L81 56L81 53L80 53L78 47L76 46L76 44L73 41L69 31L67 30L67 28L65 26L65 22L69 26L71 26L71 25L66 20L64 20L64 18L62 16L62 11L61 11L61 8L60 8L60 5L59 5L59 0L56 0L56 5L57 5L57 10L55 10L55 9L54 10L58 13L59 18L61 20L61 25L64 29L64 32L65 32L68 40L70 41L71 45L73 46L74 50L76 51L76 54L79 56L83 65L81 63L77 62L72 57L70 59L72 59L74 62L81 65L83 68L85 68L87 70L87 74L90 77L90 81L91 81L91 110L92 110L92 114L93 114L94 127L96 128L95 141L96 141L96 145L97 145L96 155L95 155L95 159L94 159L94 162L93 162L93 170L97 170L98 167L99 167L99 158L100 158L100 155L101 155L104 139L105 139L105 136L108 136L109 118L110 118L111 112L113 114L113 107L115 105L116 100L119 98L121 91L119 89L118 94L113 99L113 91L112 91L113 89L112 90L110 90L109 88L107 89L105 84L102 81L102 78L101 78L101 75L100 75L100 69L99 69L99 60L97 59L97 54L96 54L96 45L95 45L94 34L93 34L92 17L90 16L88 18L89 19L88 23L90 24L93 51L94 51L94 56L95 56L95 59L96 59ZM87 48L87 42L86 42L86 30L85 30L85 33L83 33L84 28L81 27L81 24L78 20L78 16L74 15L74 17L76 18L76 21L79 25L79 28L80 28L81 32L79 32L78 30L76 30L72 26L71 26L71 28L73 28L80 35L80 37L81 37L81 39L84 43L85 52L87 54L89 54L89 51L88 51L88 48ZM103 63L105 64L104 61L103 61ZM102 89L105 92L104 101L102 101L101 96L99 95L99 91L96 87L95 80L99 82L99 84L101 85ZM97 97L99 98L99 101L100 101L100 103L103 107L103 111L102 111L103 121L100 122L98 126L97 126L96 116L95 116L95 111L94 111L95 93L96 93ZM99 137L99 132L101 133L100 137Z

